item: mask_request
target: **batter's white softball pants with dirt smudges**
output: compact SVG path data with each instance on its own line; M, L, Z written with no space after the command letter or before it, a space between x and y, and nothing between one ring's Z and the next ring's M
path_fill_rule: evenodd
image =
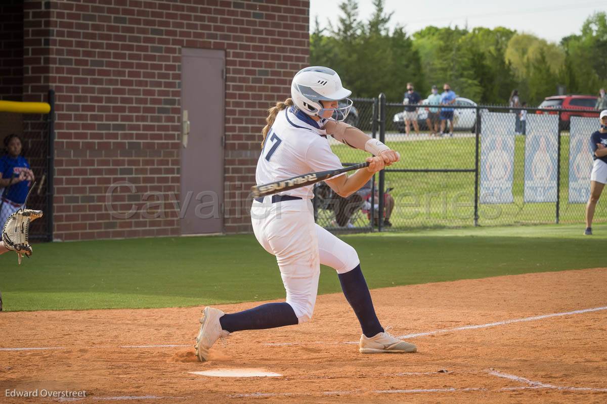
M314 223L310 199L270 204L253 201L251 221L259 244L276 255L282 283L299 323L312 318L320 264L338 274L351 271L360 263L356 250Z

